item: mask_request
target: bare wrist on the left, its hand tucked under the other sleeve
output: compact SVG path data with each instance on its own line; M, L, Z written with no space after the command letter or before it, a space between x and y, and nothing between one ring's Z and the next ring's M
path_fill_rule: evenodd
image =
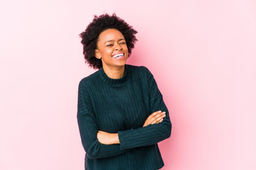
M106 145L120 144L117 133L108 133L104 131L98 131L97 138L101 144L106 144Z

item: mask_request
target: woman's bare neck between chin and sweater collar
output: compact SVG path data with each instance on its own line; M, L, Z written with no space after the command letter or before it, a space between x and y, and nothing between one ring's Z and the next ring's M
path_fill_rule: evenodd
M109 78L117 79L124 75L124 65L117 67L108 67L103 65L102 67Z

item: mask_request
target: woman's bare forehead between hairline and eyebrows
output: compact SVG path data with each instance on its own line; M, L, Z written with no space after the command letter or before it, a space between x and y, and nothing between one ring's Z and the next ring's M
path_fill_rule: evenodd
M118 31L117 29L107 29L100 33L99 35L99 41L108 41L108 40L114 40L114 39L121 39L124 38L124 35Z

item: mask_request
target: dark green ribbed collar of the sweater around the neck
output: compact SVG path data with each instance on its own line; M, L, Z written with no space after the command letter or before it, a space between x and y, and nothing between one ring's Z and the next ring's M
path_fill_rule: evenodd
M120 85L128 80L130 77L129 65L124 65L124 75L121 78L109 78L108 75L103 70L103 67L99 70L99 77L101 80L108 85Z

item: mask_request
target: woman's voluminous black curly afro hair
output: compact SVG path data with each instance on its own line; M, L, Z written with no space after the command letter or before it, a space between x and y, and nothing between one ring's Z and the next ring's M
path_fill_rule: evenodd
M94 19L86 27L85 31L79 34L82 38L81 43L83 44L85 63L89 64L89 67L94 68L94 70L102 68L101 59L94 57L94 50L97 49L99 34L109 28L117 29L124 35L128 48L128 57L130 57L132 49L137 41L135 34L138 32L123 19L117 17L115 13L112 15L94 15Z

